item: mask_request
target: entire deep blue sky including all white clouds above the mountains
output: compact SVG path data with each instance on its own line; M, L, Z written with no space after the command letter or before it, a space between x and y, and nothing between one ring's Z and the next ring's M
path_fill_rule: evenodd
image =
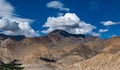
M0 33L120 36L120 0L0 0Z

